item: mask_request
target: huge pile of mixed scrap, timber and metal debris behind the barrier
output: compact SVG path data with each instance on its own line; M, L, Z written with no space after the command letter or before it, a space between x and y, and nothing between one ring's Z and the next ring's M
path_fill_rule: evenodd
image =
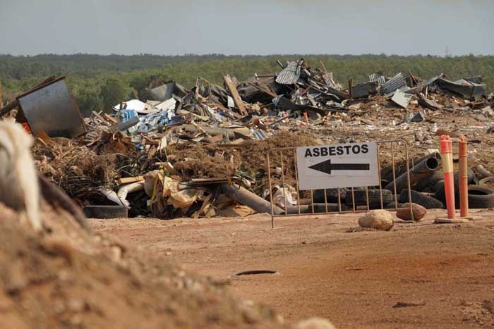
M263 210L263 202L255 198L269 199L266 155L272 149L383 139L406 140L414 146L411 159L428 154L425 163L423 158L412 161L412 190L419 193L416 199L431 197L440 202L440 159L430 160L437 158L430 154L435 154L438 136L478 137L478 125L472 120L483 123L487 136L488 123L494 118L494 97L486 95L481 77L452 81L438 75L423 81L411 72L391 77L373 73L367 81L350 80L345 89L322 63L314 68L301 58L279 66L277 74L255 74L245 82L224 75L223 86L200 77L191 89L174 81L151 80L147 94L152 99L122 100L83 120L77 108L68 107L71 114L64 117L64 125L32 116L37 97L45 95L37 92L64 89L59 85L63 78L50 77L0 113L4 116L18 108L8 116L37 137L38 170L81 206L121 206L128 208L129 216L159 218L238 214L234 209L239 204L261 205L247 211L244 207L241 213ZM70 97L64 95L62 100L50 101ZM56 118L52 108L40 111ZM470 143L474 142L471 138ZM392 192L387 202L397 206L409 201L398 198L408 188L403 180L405 167L397 165L396 178L392 175L392 158L403 163L404 153L394 150L392 154L386 147L381 151L382 189ZM472 151L474 165L494 170L483 160ZM273 156L270 167L275 206L288 211L297 200L311 196L294 192L293 157L282 164ZM287 179L285 190L282 172ZM470 181L476 182L476 177ZM242 194L244 201L239 201L225 185L242 187L251 195ZM287 204L279 197L283 191L290 195ZM324 193L315 194L324 197ZM426 206L416 199L412 201ZM354 206L348 197L343 201L347 201L343 206Z

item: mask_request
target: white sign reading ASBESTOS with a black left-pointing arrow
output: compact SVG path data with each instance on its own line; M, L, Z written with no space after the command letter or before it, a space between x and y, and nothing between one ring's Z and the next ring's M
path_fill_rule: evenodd
M297 147L300 190L379 185L375 142Z

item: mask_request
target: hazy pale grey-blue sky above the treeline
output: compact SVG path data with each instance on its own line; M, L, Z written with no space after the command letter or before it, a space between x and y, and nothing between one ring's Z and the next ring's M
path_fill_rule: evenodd
M0 54L494 54L494 0L0 0Z

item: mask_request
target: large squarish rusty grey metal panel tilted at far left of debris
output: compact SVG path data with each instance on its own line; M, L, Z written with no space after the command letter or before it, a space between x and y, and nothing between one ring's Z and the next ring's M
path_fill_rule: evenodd
M49 137L74 138L87 132L65 77L22 94L17 100L35 136L44 131Z

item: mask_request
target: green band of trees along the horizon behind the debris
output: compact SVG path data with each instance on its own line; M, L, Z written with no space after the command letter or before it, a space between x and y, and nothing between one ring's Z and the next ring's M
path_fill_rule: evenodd
M4 101L30 89L48 75L66 75L78 105L87 115L94 109L108 110L119 101L133 98L145 100L145 87L151 78L175 80L192 87L197 77L222 85L223 75L229 73L246 80L254 73L279 72L277 60L305 58L311 66L320 62L332 71L335 80L347 85L366 81L370 73L387 76L410 70L428 79L445 73L452 80L482 75L488 91L494 90L494 56L385 56L385 55L272 55L272 56L135 56L99 55L40 55L0 56L0 80L4 86Z

